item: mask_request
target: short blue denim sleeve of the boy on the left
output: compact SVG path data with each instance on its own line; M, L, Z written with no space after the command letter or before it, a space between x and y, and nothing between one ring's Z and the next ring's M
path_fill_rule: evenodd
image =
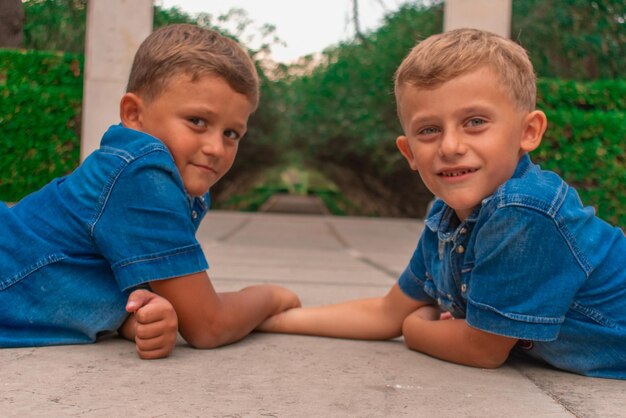
M189 199L166 152L130 162L101 200L93 237L122 290L208 268Z

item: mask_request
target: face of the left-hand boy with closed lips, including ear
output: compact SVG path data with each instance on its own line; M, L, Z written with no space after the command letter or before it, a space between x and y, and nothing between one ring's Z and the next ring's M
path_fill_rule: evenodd
M124 100L136 103L136 113L124 118ZM246 133L252 105L217 76L192 82L174 76L152 101L127 93L122 99L125 126L160 139L174 157L191 196L208 192L232 166L239 140Z

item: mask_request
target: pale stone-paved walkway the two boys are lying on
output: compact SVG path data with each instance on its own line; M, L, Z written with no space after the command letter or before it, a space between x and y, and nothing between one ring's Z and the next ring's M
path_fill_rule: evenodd
M218 291L281 283L305 305L379 296L422 225L409 219L212 212L199 236ZM445 363L400 340L252 334L165 360L131 343L0 350L0 417L624 417L626 381L521 360Z

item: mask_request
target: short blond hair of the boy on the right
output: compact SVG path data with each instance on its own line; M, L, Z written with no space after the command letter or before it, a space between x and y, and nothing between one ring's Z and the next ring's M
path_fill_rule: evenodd
M477 29L456 29L418 43L395 74L396 97L405 85L435 88L483 66L520 110L535 110L535 72L526 50L515 42Z

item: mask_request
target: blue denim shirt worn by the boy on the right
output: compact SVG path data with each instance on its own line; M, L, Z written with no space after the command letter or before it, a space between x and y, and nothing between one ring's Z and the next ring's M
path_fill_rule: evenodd
M557 368L626 378L626 238L527 155L465 221L435 203L399 286Z

